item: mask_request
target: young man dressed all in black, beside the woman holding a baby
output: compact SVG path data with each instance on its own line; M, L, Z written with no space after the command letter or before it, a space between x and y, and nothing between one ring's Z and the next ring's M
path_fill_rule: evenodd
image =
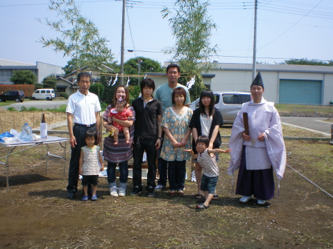
M148 197L155 196L156 158L157 149L160 148L162 139L162 104L153 98L155 82L150 78L140 83L142 96L133 100L135 109L135 131L133 145L133 192L132 196L142 193L142 156L147 155Z

